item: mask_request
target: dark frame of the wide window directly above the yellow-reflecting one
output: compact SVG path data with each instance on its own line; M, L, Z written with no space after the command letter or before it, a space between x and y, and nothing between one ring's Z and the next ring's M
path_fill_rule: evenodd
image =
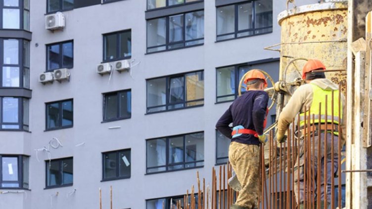
M184 12L184 13L172 14L172 15L168 15L168 16L157 17L157 18L146 20L146 54L153 54L153 53L159 53L159 52L164 52L164 51L173 51L173 50L178 50L178 49L183 49L183 48L189 48L189 47L204 45L205 34L204 34L203 38L193 39L193 40L187 40L186 41L186 29L185 29L186 28L186 14L192 13L192 12L198 12L198 11L203 11L203 14L204 14L204 9L202 9L202 10L199 9L199 10L195 10L195 11L188 11L188 12ZM169 31L170 31L169 18L171 16L176 16L176 15L183 15L183 28L182 28L183 40L182 41L172 42L171 43L169 41ZM150 21L150 20L161 19L161 18L165 18L165 21L166 21L165 44L148 47L148 42L147 42L148 41L148 27L147 27L147 22ZM204 25L205 25L205 22L204 22ZM203 40L203 42L202 43L193 44L193 45L186 45L187 42L196 42L196 41L200 41L200 40ZM181 43L183 44L183 46L181 46L181 47L169 48L170 45L176 45L176 44L181 44ZM165 47L164 50L150 51L150 52L148 51L149 49L158 48L158 47L162 47L162 46Z

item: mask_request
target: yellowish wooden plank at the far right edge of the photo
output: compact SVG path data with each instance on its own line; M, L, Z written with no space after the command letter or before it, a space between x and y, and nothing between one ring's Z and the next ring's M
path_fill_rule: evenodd
M366 17L366 67L364 88L364 118L363 118L363 146L372 146L372 101L369 98L372 89L372 12Z

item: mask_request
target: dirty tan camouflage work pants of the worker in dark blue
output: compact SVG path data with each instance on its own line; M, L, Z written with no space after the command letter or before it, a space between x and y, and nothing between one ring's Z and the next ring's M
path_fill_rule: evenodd
M231 142L229 161L241 184L241 190L235 205L249 209L257 206L258 194L260 193L260 147Z

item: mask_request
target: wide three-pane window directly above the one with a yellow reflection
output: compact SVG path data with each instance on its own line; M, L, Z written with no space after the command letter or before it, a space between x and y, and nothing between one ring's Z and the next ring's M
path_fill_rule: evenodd
M204 11L147 20L147 53L204 43Z

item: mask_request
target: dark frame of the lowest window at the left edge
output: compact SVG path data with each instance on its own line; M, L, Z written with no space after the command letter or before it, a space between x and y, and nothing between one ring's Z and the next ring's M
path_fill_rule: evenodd
M2 181L2 158L3 157L12 157L17 158L17 169L18 169L18 181ZM24 175L23 175L23 158L29 158L29 167L30 167L30 156L27 155L0 155L0 189L25 189L29 190L29 188L23 187L24 184ZM29 169L30 172L30 169ZM28 173L29 175L29 173ZM18 183L19 187L2 187L2 183ZM30 182L28 184L30 186Z

